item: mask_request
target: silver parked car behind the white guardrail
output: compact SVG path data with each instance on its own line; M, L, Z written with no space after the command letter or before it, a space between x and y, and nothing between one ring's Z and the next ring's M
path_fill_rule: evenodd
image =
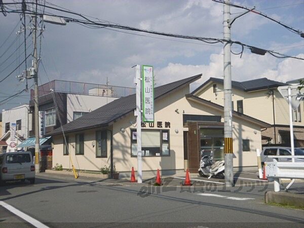
M273 159L268 156L290 156L291 148L290 147L280 147L280 146L266 146L263 147L261 152L261 162L272 162ZM294 155L304 156L303 148L294 148ZM279 162L291 162L289 158L279 158ZM295 162L304 162L304 159L295 159Z

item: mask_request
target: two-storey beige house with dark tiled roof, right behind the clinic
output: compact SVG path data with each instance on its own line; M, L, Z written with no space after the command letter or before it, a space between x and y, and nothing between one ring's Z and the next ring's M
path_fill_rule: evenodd
M290 82L289 82L290 83ZM289 109L279 86L289 84L267 78L232 81L232 106L235 111L271 124L261 131L263 145L290 146ZM223 80L210 78L194 92L196 96L223 105ZM304 146L303 102L293 110L295 146Z

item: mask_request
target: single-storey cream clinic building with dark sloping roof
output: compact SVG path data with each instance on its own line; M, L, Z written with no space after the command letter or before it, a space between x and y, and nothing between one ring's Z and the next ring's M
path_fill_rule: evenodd
M141 124L143 175L189 171L197 173L201 150L223 159L223 106L189 94L189 84L201 74L155 88L155 121ZM112 101L48 133L53 137L53 167L100 172L113 167L121 176L137 169L135 95ZM269 124L234 113L234 166L256 166L261 128Z

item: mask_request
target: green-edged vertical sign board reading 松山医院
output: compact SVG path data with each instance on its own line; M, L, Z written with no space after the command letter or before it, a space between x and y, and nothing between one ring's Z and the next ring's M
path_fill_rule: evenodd
M142 65L142 109L142 121L154 122L153 66Z

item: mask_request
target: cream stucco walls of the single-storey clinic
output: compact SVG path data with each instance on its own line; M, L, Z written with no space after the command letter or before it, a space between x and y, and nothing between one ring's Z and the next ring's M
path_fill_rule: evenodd
M169 129L170 157L143 157L143 171L157 169L182 170L184 168L183 131L187 129L183 128L183 113L223 116L221 110L216 110L198 102L188 101L185 98L185 94L187 93L189 93L189 87L185 86L156 101L155 127L153 129ZM176 112L175 109L178 109L178 111ZM221 121L223 121L223 118ZM131 157L130 136L131 129L136 129L136 126L131 125L130 122L135 123L133 112L112 124L113 162L116 163L116 168L120 172L130 172L132 166L137 170L137 158ZM158 128L157 122L162 122L163 128ZM165 122L170 122L170 128L165 128ZM149 129L148 124L146 126L146 129ZM260 127L238 117L234 118L233 127L235 152L234 166L256 166L255 150L256 148L260 149L261 146ZM125 129L124 132L121 131L122 128ZM85 131L85 155L75 156L75 149L72 146L75 144L75 134L69 134L70 154L74 166L77 169L97 171L105 164L110 165L109 150L106 159L95 157L95 148L92 147L92 143L95 141L96 130L97 129ZM256 131L256 134L254 134L254 131ZM241 137L241 139L250 139L251 151L241 151L240 143L242 143L242 141L238 140L239 137ZM62 136L54 137L53 166L58 163L62 164L63 168L71 168L68 156L63 156L62 142Z

